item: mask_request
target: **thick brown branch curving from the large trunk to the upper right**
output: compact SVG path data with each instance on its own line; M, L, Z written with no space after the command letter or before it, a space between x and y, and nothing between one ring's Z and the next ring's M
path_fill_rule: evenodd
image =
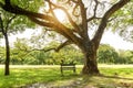
M120 0L117 3L115 3L114 6L112 6L103 15L102 20L101 20L101 24L98 28L98 31L93 37L93 42L96 44L95 48L99 47L100 41L102 38L103 32L106 28L108 21L110 19L110 16L117 10L120 10L123 6L125 6L127 2L130 2L130 0Z

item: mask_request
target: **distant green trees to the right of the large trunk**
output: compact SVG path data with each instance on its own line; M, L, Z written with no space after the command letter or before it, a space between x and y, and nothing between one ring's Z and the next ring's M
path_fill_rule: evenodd
M105 64L133 64L132 51L119 51L106 44L99 48L98 62Z

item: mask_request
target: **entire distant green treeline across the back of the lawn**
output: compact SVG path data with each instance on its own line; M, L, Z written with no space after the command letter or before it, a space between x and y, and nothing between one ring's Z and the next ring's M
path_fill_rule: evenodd
M51 42L43 47L49 50L57 47L59 43ZM62 48L60 52L54 51L39 51L29 45L29 41L21 38L14 43L14 47L11 48L11 64L17 65L59 65L63 59L69 64L74 62L76 65L83 64L83 55L73 45ZM0 47L0 64L4 63L4 48ZM133 64L133 51L119 51L106 44L102 44L98 53L98 62L102 64Z

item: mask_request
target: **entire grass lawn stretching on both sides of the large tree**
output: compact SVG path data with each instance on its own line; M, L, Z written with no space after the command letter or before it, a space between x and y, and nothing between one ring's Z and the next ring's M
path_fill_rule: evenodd
M76 68L76 74L65 72L60 74L60 67L12 67L10 76L3 76L3 68L0 68L0 88L17 88L34 82L43 82L63 86L72 81L80 80L80 85L89 88L133 88L132 67L100 67L102 76L81 76L81 67ZM126 87L129 86L129 87Z

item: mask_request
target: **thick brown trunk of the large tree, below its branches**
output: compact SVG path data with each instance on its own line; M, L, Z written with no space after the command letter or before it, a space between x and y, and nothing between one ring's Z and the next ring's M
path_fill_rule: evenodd
M96 62L96 48L91 43L85 46L84 54L84 66L82 68L82 75L99 75Z

